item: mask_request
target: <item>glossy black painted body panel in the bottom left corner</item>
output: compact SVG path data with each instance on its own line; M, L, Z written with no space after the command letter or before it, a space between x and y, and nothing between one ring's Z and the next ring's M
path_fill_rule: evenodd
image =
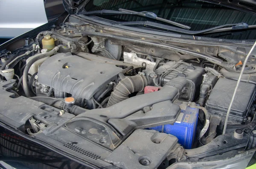
M19 169L91 169L3 127L0 127L0 160Z

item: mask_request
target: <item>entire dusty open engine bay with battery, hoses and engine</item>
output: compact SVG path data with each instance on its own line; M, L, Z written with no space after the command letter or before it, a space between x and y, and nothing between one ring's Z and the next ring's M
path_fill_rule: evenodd
M242 63L167 49L160 57L100 29L70 16L3 51L1 122L109 169L166 169L255 148L254 63L223 134Z

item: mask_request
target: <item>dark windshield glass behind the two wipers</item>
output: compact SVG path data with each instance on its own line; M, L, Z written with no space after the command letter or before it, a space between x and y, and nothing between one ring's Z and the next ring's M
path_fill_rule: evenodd
M154 12L157 17L190 26L192 31L230 23L256 25L256 15L197 0L90 0L84 9L86 11L102 9L118 11L119 8ZM99 17L120 22L151 20L137 15L100 15ZM156 20L151 21L163 23ZM163 24L168 25L168 23ZM236 32L204 34L203 36L234 40L256 39L256 30L238 30Z

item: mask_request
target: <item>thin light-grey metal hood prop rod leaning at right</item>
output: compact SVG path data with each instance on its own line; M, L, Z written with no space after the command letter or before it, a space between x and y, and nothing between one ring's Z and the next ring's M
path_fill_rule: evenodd
M238 78L237 83L236 83L236 88L235 88L234 94L233 94L232 99L231 99L231 101L230 101L230 105L229 105L229 107L228 107L228 109L227 109L227 115L226 115L226 119L225 119L225 123L224 123L224 128L223 128L222 135L224 135L224 134L226 133L227 122L228 122L228 117L229 117L229 115L230 115L230 110L231 110L232 104L233 104L233 102L234 102L234 100L235 100L236 92L237 92L239 83L240 83L240 81L241 81L242 75L243 75L243 73L244 73L244 68L245 68L245 66L246 66L247 60L249 59L250 54L253 52L253 49L255 48L255 46L256 46L256 40L255 40L255 42L254 42L252 48L250 49L250 52L249 52L249 53L247 54L247 56L245 57L245 60L244 60L244 63L243 63L243 66L242 66L242 69L241 69L239 78Z

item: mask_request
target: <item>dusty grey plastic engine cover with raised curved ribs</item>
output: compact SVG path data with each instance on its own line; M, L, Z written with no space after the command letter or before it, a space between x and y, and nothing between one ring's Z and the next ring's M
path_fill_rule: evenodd
M71 53L60 53L40 66L38 82L75 98L89 100L103 86L115 80L121 71L122 68L112 64L90 61Z

